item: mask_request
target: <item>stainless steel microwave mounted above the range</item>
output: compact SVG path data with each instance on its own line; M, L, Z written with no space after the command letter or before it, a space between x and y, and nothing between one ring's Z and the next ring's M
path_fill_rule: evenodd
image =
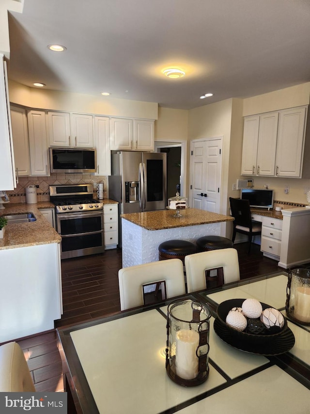
M96 150L50 148L50 172L96 172Z

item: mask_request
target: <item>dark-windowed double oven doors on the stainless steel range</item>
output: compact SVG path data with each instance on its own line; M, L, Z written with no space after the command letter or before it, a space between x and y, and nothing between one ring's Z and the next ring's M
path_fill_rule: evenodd
M57 214L56 226L62 236L62 259L104 251L102 210Z

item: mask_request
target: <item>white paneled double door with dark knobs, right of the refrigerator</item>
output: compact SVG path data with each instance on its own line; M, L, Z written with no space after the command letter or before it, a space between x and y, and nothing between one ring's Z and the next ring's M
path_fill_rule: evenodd
M222 138L191 142L190 205L219 213Z

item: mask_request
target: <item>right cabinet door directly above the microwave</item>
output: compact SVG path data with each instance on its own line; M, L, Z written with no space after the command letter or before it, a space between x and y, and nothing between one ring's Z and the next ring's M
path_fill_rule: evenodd
M93 116L71 115L71 146L93 148Z

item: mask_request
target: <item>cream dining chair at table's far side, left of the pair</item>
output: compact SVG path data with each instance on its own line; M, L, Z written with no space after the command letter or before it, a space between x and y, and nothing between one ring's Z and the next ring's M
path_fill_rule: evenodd
M170 259L143 265L123 267L118 272L121 310L142 306L143 285L166 284L166 298L184 295L185 280L183 263L180 259Z

